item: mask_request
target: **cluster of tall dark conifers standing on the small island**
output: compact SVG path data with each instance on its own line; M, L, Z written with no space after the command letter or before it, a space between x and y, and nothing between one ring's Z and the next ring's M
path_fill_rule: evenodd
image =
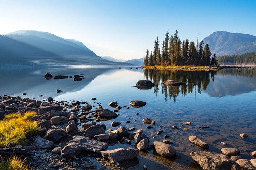
M174 36L171 35L169 38L168 31L165 34L165 40L162 44L162 50L160 51L160 45L158 37L154 42L154 51L149 54L146 51L146 56L144 57L145 66L156 66L156 65L202 65L202 66L217 66L216 55L214 54L212 58L210 48L208 44L205 44L203 48L203 41L199 43L199 48L194 42L189 42L188 39L181 40L178 36L178 31L176 30Z

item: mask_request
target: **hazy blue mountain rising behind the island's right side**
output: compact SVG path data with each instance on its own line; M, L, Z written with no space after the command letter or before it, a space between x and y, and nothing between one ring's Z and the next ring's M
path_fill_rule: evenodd
M249 34L217 31L204 38L203 42L217 56L256 52L256 36Z

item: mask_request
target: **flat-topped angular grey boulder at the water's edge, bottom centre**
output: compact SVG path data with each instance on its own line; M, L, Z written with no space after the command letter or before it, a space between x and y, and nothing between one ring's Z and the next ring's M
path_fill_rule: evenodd
M110 151L101 151L101 156L108 158L111 162L119 162L124 160L131 160L138 157L138 149L114 149Z

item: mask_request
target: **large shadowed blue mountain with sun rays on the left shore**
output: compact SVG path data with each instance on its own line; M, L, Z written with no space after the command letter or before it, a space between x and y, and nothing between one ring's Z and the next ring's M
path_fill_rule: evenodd
M0 35L0 65L122 65L97 56L82 42L39 31Z

